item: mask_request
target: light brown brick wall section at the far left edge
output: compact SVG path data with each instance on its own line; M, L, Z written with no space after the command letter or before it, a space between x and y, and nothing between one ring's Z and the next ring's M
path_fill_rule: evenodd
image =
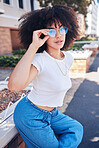
M10 28L0 27L0 55L12 52Z

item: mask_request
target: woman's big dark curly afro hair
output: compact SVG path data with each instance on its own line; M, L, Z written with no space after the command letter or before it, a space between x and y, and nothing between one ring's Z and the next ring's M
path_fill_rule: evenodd
M80 35L77 14L72 8L65 5L54 5L34 10L24 14L19 20L21 20L19 36L25 49L28 49L32 43L33 31L46 29L47 25L51 26L53 23L56 26L56 23L60 22L68 28L65 44L61 50L67 50ZM41 38L43 37L42 34ZM37 52L43 52L46 49L47 43L45 42Z

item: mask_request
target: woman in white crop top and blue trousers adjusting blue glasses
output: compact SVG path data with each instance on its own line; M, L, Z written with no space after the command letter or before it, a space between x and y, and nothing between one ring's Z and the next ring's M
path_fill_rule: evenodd
M76 13L55 5L21 17L20 37L27 52L16 65L8 83L20 91L33 88L16 106L14 122L28 148L77 148L82 125L58 111L71 87L69 69L73 57L64 49L79 35Z

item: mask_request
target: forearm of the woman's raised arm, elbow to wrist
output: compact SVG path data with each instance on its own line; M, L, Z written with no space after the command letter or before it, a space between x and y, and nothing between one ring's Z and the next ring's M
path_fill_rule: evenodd
M8 82L8 88L11 91L19 91L20 88L24 87L28 80L31 63L36 51L37 47L34 44L31 44L27 52L14 68Z

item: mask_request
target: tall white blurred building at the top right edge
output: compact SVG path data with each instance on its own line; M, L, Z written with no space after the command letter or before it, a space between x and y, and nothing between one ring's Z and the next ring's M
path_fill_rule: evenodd
M88 7L86 35L98 36L98 5L95 1Z

